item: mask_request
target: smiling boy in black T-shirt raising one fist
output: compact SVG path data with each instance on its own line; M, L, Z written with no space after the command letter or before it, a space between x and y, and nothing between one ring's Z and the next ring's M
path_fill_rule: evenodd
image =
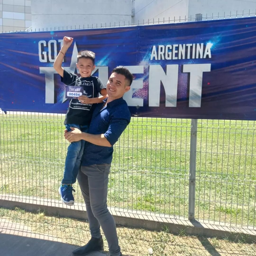
M73 42L72 37L63 38L63 46L54 62L54 69L60 74L61 81L67 86L82 86L83 95L78 99L71 99L64 124L67 131L71 131L70 127L78 128L82 132L87 132L91 121L94 103L103 102L106 98L106 86L98 77L91 76L95 69L94 60L95 53L92 51L81 51L77 55L77 69L81 77L76 74L67 72L62 68L63 58ZM97 97L98 93L102 96ZM67 157L63 179L59 187L61 201L67 205L74 204L74 191L72 184L76 182L78 170L80 168L83 155L84 140L72 142L68 147Z

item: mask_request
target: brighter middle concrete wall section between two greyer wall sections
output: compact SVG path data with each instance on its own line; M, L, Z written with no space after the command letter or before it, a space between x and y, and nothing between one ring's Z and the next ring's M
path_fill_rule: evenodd
M184 19L188 17L189 0L136 0L134 1L135 15L132 19L134 23L138 20L153 22L159 20Z

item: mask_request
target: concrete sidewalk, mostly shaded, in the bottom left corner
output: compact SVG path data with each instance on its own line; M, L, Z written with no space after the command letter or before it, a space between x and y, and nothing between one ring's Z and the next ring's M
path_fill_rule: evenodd
M77 248L63 243L52 236L36 234L27 226L0 219L1 255L8 256L71 256ZM106 256L103 252L94 252L88 256Z

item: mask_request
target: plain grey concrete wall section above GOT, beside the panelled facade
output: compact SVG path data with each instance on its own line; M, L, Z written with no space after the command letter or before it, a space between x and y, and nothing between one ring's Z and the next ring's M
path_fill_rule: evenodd
M131 0L32 0L32 27L46 29L131 22Z

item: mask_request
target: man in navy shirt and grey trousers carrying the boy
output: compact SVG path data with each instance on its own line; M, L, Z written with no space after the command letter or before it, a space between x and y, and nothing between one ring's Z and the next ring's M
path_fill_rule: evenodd
M100 225L108 241L110 255L122 255L115 221L107 208L108 175L113 145L131 120L123 95L130 90L132 80L133 75L125 67L113 69L106 85L108 98L103 104L97 104L88 133L77 128L71 128L72 131L65 133L65 138L69 142L86 141L78 182L86 203L92 238L85 246L74 250L74 255L86 255L92 251L103 250Z

